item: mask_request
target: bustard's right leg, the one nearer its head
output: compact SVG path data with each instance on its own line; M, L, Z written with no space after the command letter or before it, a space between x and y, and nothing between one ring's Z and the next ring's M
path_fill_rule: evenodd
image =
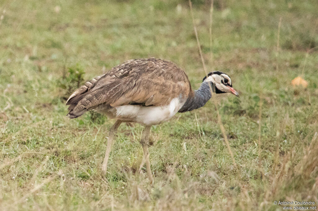
M150 169L150 160L149 160L149 151L148 151L148 144L149 144L149 132L150 132L151 125L146 125L145 129L142 132L142 139L141 139L141 145L143 149L143 158L142 163L139 168L139 172L143 166L143 164L146 162L147 166L147 175L149 178L150 183L152 183L152 174Z

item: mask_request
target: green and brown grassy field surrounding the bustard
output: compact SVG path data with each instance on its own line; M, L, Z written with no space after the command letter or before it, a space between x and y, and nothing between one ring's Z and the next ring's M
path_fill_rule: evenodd
M152 127L154 175L137 173L142 126L66 117L65 98L128 59L177 63L204 77L189 3L0 1L0 210L283 210L318 203L318 3L193 2L205 63L240 98L215 99ZM293 87L302 76L308 87ZM145 170L145 169L143 169ZM298 205L302 206L302 205Z

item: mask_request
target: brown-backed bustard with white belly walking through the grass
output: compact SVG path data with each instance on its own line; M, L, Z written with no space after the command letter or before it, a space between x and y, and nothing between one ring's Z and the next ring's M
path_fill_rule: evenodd
M107 174L107 163L117 129L122 122L136 122L144 126L141 138L143 158L139 171L146 164L152 183L149 159L149 132L152 125L168 121L177 112L198 109L211 98L211 91L232 93L230 76L212 71L204 76L199 89L193 90L186 73L175 63L156 58L128 60L84 83L66 101L67 117L73 119L94 110L111 119L107 147L101 170Z

